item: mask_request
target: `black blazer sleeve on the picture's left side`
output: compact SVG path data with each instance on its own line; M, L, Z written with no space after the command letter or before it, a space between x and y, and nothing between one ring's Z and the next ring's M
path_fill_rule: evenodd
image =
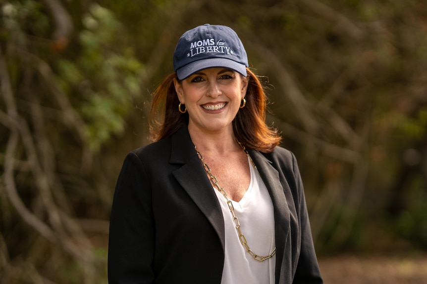
M155 231L151 197L144 164L131 152L123 162L111 206L109 284L154 282Z

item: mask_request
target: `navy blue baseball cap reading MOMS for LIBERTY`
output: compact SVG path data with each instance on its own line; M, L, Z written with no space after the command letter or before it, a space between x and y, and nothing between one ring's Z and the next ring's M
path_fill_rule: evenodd
M209 24L185 32L173 54L178 79L214 67L228 68L246 77L248 56L236 32L227 26Z

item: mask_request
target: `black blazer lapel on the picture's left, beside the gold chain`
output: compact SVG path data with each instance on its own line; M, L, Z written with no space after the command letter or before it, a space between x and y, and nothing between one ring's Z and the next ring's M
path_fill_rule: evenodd
M225 248L225 230L222 210L205 169L194 149L187 125L182 126L171 137L170 163L182 166L173 175L214 227Z

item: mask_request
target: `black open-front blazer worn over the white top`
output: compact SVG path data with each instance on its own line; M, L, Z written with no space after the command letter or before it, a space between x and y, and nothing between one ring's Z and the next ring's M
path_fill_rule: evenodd
M294 155L248 149L274 206L276 284L321 284ZM220 284L224 220L187 127L129 153L111 209L109 284Z

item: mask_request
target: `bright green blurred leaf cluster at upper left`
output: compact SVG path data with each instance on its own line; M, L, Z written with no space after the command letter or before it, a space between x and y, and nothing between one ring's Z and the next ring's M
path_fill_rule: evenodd
M112 135L123 132L132 98L141 92L144 68L130 47L117 49L122 27L108 9L93 4L82 22L79 56L59 60L57 68L64 90L69 95L81 92L85 98L80 112L87 122L90 146L98 151Z

